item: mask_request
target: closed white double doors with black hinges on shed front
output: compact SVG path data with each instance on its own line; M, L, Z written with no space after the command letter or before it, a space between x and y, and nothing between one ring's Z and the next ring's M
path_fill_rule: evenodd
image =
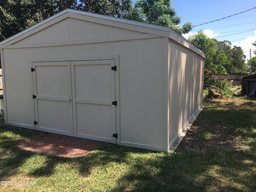
M33 62L35 129L116 143L115 60Z

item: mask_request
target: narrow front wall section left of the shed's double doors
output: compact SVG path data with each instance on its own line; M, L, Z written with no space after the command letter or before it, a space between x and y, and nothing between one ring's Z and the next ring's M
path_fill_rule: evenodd
M16 126L33 128L34 101L31 100L32 48L6 49L1 53L4 75L5 122Z

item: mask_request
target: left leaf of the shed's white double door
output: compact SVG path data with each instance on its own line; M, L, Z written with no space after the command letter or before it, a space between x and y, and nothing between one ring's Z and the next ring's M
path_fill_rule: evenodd
M34 62L36 130L73 136L70 62Z

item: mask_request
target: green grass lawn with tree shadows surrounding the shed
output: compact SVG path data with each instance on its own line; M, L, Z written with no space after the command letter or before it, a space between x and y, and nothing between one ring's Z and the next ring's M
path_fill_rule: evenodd
M0 191L256 192L256 101L204 100L174 154L105 144L81 158L18 148L42 134L0 127Z

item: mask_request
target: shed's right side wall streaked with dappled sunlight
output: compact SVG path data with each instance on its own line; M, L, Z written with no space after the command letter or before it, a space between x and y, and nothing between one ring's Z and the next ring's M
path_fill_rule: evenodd
M169 148L203 104L204 58L170 40Z

